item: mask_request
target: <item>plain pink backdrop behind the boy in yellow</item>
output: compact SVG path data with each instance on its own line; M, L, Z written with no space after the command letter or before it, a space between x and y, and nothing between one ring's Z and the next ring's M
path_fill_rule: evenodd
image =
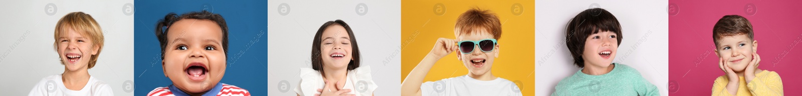
M785 95L802 95L800 4L799 0L670 0L669 94L711 94L715 78L724 75L713 52L713 25L724 15L737 14L751 21L759 43L759 68L780 74Z

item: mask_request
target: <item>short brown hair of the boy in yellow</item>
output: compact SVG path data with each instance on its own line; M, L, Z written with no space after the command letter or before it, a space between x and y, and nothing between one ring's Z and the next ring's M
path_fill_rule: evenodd
M713 26L713 43L715 43L716 48L719 47L719 39L721 37L735 35L747 35L749 39L754 40L751 23L747 18L739 15L727 15L715 22Z

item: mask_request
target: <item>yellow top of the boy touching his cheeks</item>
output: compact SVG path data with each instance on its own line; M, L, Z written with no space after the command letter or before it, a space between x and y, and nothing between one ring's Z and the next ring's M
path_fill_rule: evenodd
M739 84L738 84L738 92L736 93L738 96L782 96L783 94L783 80L780 79L780 75L777 75L777 72L774 71L761 71L760 73L755 75L755 79L752 79L750 83L747 84L747 80L743 79L743 76L739 77ZM727 83L729 80L727 79L727 75L719 76L718 79L715 79L715 83L713 83L713 96L731 96L730 92L727 91Z

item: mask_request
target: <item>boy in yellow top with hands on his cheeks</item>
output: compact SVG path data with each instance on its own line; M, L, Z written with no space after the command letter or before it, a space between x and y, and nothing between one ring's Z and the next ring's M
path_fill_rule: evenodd
M713 27L719 68L726 75L713 83L712 95L783 95L783 83L775 71L760 70L757 40L751 23L738 15L727 15Z

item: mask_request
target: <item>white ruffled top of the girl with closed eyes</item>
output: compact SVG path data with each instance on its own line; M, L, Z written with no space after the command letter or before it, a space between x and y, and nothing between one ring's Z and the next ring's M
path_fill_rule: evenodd
M295 87L295 93L302 96L311 96L320 94L318 89L323 89L326 83L323 82L323 76L319 71L315 71L309 67L301 67L301 82L298 87ZM376 83L373 82L371 77L371 67L362 66L354 70L348 71L346 76L346 85L341 89L350 89L349 94L356 94L357 96L371 96L373 90L376 90ZM327 90L323 90L327 91Z

